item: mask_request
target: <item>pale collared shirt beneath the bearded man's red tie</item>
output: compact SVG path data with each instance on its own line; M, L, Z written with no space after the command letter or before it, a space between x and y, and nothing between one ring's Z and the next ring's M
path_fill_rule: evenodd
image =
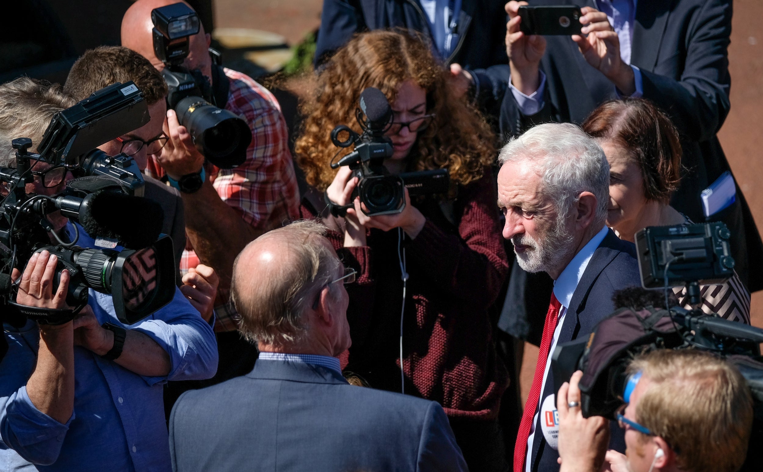
M540 385L540 396L538 404L535 406L535 415L533 416L533 424L530 425L530 436L527 438L527 456L525 458L525 471L530 472L530 466L533 456L533 439L535 438L535 425L538 421L538 414L540 406L543 404L543 391L546 387L546 377L549 377L549 369L551 368L551 354L556 349L556 343L559 341L559 333L562 331L562 325L565 322L565 315L567 309L570 306L572 294L575 293L575 289L578 288L578 283L583 277L585 268L588 267L588 261L594 256L594 251L599 247L601 241L604 241L604 237L607 236L607 232L610 231L607 226L601 228L601 230L588 241L583 248L575 254L570 263L567 264L565 270L559 274L559 278L554 280L554 296L559 300L559 304L562 307L559 309L559 318L556 322L556 328L554 329L554 337L551 340L551 348L549 349L549 355L546 357L546 369L543 370L543 383Z

